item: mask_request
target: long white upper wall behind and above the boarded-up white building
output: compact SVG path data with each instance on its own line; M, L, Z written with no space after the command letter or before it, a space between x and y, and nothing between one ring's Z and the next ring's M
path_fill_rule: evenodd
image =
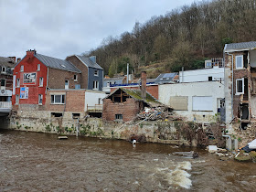
M198 82L208 81L208 77L212 80L224 79L224 68L214 67L212 69L197 69L179 71L179 82Z

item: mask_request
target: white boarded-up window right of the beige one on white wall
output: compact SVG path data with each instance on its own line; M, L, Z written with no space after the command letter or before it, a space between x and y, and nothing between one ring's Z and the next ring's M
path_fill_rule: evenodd
M193 111L213 111L213 99L208 96L193 97Z

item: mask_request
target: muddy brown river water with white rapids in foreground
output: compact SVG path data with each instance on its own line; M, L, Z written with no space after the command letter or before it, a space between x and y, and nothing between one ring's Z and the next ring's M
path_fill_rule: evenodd
M256 190L256 164L170 155L190 150L0 130L0 191Z

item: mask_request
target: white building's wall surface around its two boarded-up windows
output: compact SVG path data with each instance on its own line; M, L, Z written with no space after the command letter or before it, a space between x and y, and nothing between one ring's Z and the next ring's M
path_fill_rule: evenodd
M176 114L186 117L187 121L198 123L215 122L218 112L219 98L224 98L224 85L218 81L191 82L159 85L159 101L170 106L171 97L187 96L187 111L175 111ZM212 96L212 111L193 111L193 96Z

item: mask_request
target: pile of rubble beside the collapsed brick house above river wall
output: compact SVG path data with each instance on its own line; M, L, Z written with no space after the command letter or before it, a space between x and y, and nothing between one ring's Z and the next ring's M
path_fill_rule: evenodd
M165 106L157 106L152 108L144 108L143 112L137 114L139 119L146 120L170 120L170 121L181 121L180 117L176 117L173 112L170 112L170 109Z

